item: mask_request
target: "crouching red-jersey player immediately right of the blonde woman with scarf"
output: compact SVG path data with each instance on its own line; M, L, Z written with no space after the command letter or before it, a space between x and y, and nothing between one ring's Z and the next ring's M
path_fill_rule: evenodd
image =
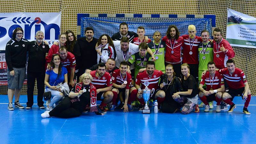
M108 72L106 72L105 63L99 63L97 70L91 71L92 84L97 89L97 100L102 100L100 110L102 113L107 113L107 104L113 98L112 80Z

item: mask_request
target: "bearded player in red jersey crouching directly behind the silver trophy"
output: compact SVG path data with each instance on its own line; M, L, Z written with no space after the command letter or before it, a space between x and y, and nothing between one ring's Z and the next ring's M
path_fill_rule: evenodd
M137 98L140 101L139 111L143 110L145 102L141 96L142 90L146 87L145 82L149 82L148 88L153 90L153 99L164 99L165 92L159 89L158 81L164 73L160 70L155 70L155 62L148 61L146 65L146 70L139 73L136 77L135 87L138 90ZM142 89L142 90L141 90Z

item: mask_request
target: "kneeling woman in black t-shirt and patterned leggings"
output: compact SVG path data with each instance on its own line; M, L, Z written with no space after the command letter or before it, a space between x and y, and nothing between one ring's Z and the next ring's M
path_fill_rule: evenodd
M189 66L187 63L181 65L181 73L183 75L181 79L183 92L176 92L172 97L182 106L181 112L183 114L190 113L194 108L196 109L195 112L198 113L200 110L197 105L197 82L195 78L189 74Z

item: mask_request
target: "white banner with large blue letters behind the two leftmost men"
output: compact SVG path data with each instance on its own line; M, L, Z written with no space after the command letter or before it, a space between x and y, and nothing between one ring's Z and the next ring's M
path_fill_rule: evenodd
M51 47L60 35L60 12L14 12L0 13L0 50L5 50L6 43L12 38L15 28L21 27L23 38L34 41L36 31L44 32L44 39Z

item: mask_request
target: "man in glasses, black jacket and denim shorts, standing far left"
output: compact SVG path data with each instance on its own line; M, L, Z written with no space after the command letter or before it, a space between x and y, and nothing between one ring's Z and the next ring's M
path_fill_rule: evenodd
M23 29L16 28L12 33L12 39L7 42L5 47L5 60L7 63L8 81L8 110L12 107L13 95L15 95L14 107L24 108L20 105L20 89L26 75L26 55L28 40L23 39Z

